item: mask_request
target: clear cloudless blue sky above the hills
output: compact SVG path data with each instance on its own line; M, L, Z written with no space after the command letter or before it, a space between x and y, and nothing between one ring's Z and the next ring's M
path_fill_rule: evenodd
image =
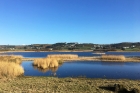
M0 45L140 42L140 0L0 0Z

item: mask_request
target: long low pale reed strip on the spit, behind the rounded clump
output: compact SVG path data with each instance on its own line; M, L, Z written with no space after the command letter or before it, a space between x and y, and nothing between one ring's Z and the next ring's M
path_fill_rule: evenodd
M47 58L74 59L74 58L78 58L78 55L76 55L76 54L52 54L52 55L48 55Z

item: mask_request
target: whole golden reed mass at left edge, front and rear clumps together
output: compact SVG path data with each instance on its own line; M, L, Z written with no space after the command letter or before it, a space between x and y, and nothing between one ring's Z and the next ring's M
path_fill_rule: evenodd
M13 78L24 74L20 66L22 56L3 55L0 56L0 78Z

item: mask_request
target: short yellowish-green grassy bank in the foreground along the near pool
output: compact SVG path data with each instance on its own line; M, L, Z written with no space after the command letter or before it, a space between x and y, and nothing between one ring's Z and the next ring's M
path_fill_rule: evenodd
M4 93L114 93L114 84L123 85L128 91L140 89L139 80L125 79L20 77L0 82L0 92Z

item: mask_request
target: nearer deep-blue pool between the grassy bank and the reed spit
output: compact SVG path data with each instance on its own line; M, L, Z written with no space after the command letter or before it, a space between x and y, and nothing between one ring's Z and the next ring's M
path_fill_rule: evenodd
M140 79L140 63L136 62L65 62L58 68L38 69L32 61L21 64L25 76L86 77L107 79Z

